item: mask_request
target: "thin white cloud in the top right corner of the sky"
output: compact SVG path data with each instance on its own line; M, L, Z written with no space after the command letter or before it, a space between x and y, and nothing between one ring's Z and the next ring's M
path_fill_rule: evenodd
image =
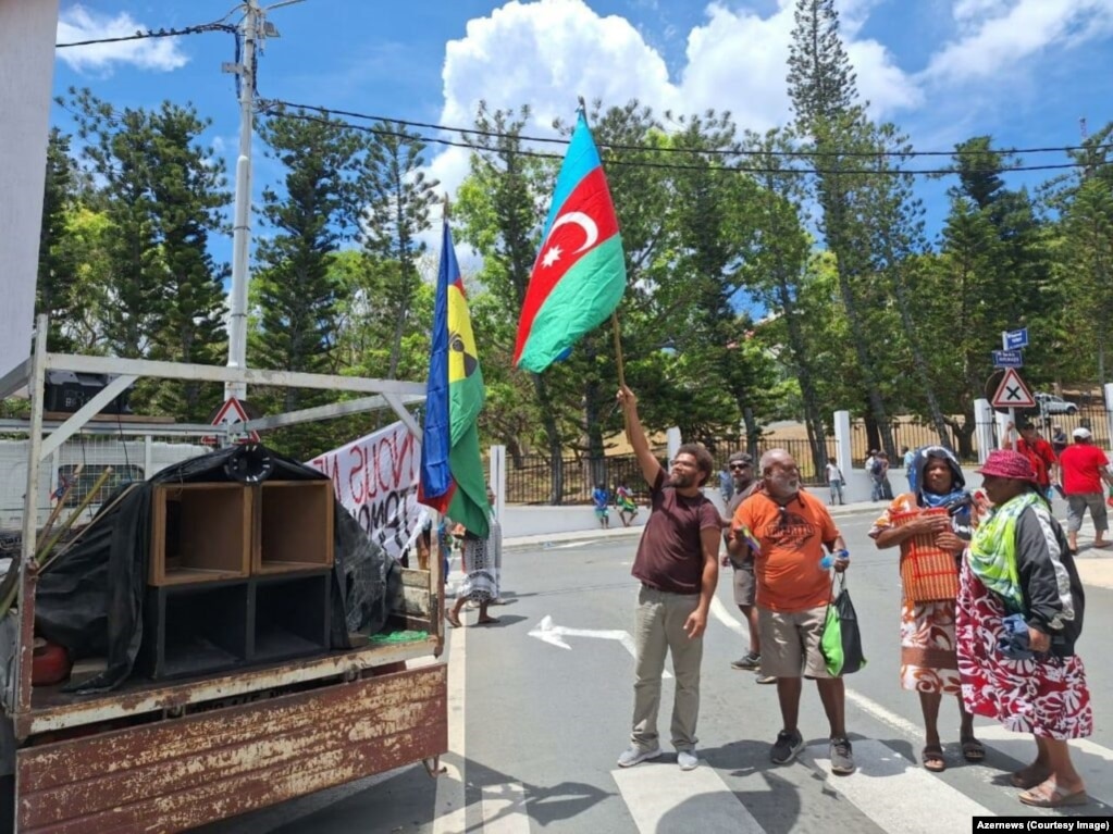
M1109 0L956 0L961 37L936 52L924 78L934 83L1016 72L1024 60L1113 32Z

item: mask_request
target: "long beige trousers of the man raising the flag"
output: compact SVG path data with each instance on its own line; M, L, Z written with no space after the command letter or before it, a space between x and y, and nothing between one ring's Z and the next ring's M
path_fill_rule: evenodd
M630 741L641 749L659 746L657 713L661 706L661 674L666 654L672 653L677 692L672 702L672 746L696 747L699 718L699 665L703 637L690 639L684 622L699 606L699 594L670 594L644 585L638 592L634 645L633 732Z

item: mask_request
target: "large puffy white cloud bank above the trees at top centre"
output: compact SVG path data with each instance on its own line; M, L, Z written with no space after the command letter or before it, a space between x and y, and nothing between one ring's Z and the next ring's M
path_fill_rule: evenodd
M920 93L885 47L853 38L877 2L839 7L859 90L875 115L886 116L918 105ZM492 108L529 103L531 128L548 130L554 117L571 118L582 95L605 106L637 98L658 113L729 110L740 128L764 131L790 116L785 78L792 9L792 0L781 0L762 18L710 3L706 22L688 33L680 78L670 79L664 58L622 18L601 17L583 0L511 0L447 43L443 121L471 123L483 99Z

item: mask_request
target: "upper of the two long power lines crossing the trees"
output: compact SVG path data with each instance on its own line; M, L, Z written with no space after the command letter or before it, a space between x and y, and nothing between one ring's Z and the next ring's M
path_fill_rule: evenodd
M500 133L493 130L479 130L476 128L461 128L453 127L451 125L436 125L434 122L426 121L411 121L407 119L395 119L387 116L374 116L371 113L361 113L353 110L338 110L326 107L321 107L318 105L303 105L290 101L283 101L275 99L268 103L282 106L282 107L294 107L303 110L314 110L321 113L334 113L336 116L344 116L349 119L362 119L366 121L386 121L393 122L394 125L402 125L410 128L424 128L427 130L443 130L450 133L460 133L461 136L481 136L490 139L501 139L510 136L509 133ZM353 126L355 127L355 126ZM539 142L548 145L568 145L568 139L554 138L554 137L543 137L543 136L525 136L519 135L519 139L529 142ZM815 157L839 157L839 158L864 158L864 159L876 159L877 157L956 157L956 156L1018 156L1022 153L1067 153L1071 151L1080 150L1107 150L1113 149L1113 143L1109 145L1097 145L1097 146L1085 146L1085 145L1072 145L1055 148L1005 148L996 149L989 148L985 150L968 150L968 151L957 151L957 150L876 150L876 151L805 151L805 150L747 150L745 148L740 149L699 149L699 148L677 148L677 147L651 147L646 145L623 145L620 142L597 142L599 147L610 148L611 150L629 150L629 151L643 151L651 150L661 153L684 153L684 155L699 155L699 156L761 156L761 157L787 157L787 158L815 158ZM1068 168L1074 167L1073 165L1066 166ZM1025 168L1017 168L1016 170L1027 170Z

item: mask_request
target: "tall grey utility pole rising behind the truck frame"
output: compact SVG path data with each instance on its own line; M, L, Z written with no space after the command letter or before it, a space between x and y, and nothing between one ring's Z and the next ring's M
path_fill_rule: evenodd
M252 129L255 121L255 40L263 32L263 10L258 0L247 0L240 31L240 63L224 70L239 76L239 155L236 158L236 214L232 237L232 288L228 307L228 367L247 367L247 260L252 247ZM243 399L247 386L226 383L225 399Z

